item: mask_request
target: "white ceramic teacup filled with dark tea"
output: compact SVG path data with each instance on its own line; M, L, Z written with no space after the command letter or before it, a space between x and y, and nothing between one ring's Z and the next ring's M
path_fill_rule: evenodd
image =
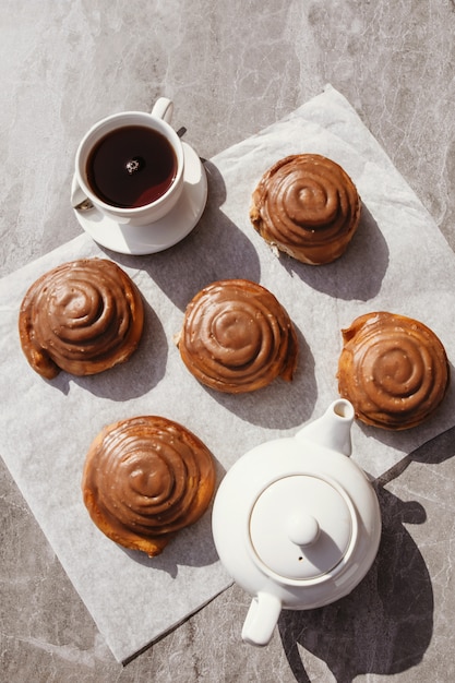
M169 124L172 111L172 101L160 97L152 113L124 111L95 123L77 147L73 207L93 205L131 226L166 216L183 190L184 155Z

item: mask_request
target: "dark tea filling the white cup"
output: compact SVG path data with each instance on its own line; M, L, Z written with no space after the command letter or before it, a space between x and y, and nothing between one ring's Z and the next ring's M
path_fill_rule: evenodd
M135 208L166 194L176 179L177 156L159 131L123 125L94 145L86 173L92 192L103 202Z

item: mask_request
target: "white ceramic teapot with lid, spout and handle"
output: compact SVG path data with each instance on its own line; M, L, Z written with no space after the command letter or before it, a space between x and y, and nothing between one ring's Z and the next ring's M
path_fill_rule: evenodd
M296 436L249 451L228 470L214 501L221 563L253 596L242 638L267 645L282 608L338 600L378 553L374 489L349 457L354 408L335 400Z

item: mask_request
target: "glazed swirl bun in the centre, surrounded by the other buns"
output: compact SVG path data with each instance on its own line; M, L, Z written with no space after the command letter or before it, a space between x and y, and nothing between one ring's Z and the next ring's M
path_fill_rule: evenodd
M278 300L246 279L218 280L187 307L177 339L190 372L211 388L252 392L292 380L297 336Z

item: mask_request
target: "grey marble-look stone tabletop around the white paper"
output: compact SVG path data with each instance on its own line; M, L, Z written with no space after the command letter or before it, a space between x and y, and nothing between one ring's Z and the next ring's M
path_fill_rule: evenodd
M209 158L327 82L455 248L454 35L450 0L2 0L1 275L81 232L69 187L77 142L95 120L167 95L176 128ZM430 263L422 287L429 277ZM232 587L127 667L1 465L0 678L448 683L454 455L448 432L378 481L380 553L348 598L284 612L271 645L255 649L240 642L249 597Z

